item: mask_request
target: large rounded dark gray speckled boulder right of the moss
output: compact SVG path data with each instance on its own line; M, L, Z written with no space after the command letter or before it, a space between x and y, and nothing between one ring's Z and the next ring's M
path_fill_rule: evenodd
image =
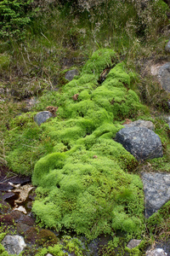
M147 128L138 126L123 128L116 133L115 139L137 160L163 156L160 137Z

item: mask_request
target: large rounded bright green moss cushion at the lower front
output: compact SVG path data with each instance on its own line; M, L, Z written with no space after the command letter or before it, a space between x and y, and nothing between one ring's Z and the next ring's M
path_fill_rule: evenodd
M69 228L89 239L111 233L111 228L139 233L144 211L142 183L136 177L138 183L134 186L133 176L123 172L116 161L101 154L93 158L95 153L77 148L75 152L60 154L65 155L62 168L57 166L59 154L39 160L32 182L50 187L50 192L47 196L40 192L33 212L42 225L56 230ZM115 214L114 209L120 204L122 211Z

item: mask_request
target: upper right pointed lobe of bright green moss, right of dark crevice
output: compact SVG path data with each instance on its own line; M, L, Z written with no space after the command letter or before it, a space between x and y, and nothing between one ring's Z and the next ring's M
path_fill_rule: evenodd
M113 113L115 119L135 117L139 108L139 97L129 90L130 77L125 73L123 63L112 68L105 82L94 90L92 100L107 112Z

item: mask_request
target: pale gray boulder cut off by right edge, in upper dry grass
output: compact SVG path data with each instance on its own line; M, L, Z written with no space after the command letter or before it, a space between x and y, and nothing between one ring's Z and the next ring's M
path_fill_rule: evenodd
M159 68L158 77L162 88L170 92L170 62L167 62Z

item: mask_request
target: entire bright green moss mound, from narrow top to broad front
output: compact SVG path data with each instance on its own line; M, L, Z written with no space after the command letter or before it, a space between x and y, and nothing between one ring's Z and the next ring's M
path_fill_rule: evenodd
M116 62L113 50L98 50L79 78L40 99L37 109L45 110L52 102L59 107L54 119L39 127L33 120L35 113L26 113L10 124L10 166L15 172L23 173L24 166L25 172L31 172L37 162L32 175L37 200L32 211L42 226L74 230L88 239L117 230L140 234L142 183L127 173L138 163L114 137L122 129L117 120L136 117L144 107L130 90L124 63ZM99 84L105 68L111 71Z

